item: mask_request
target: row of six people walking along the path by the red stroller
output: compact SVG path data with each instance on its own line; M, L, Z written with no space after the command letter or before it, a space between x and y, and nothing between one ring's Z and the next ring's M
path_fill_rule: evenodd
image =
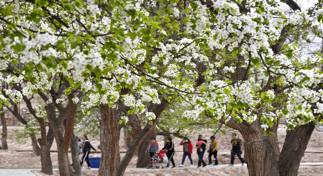
M213 166L213 162L212 162L212 156L214 157L214 166L218 165L218 160L217 160L217 153L218 153L218 144L217 141L215 140L214 136L211 136L210 138L210 143L209 143L209 148L208 148L208 159L209 159L209 166ZM245 161L244 159L241 157L242 151L241 151L241 146L242 146L242 141L241 139L237 138L237 134L233 133L232 134L232 140L231 140L231 144L232 144L232 150L231 150L231 164L229 166L234 166L234 156L237 155L237 157L240 159L242 166L245 165ZM192 153L193 153L193 143L190 141L189 138L183 138L182 142L180 143L180 145L183 146L183 159L182 159L182 163L181 165L179 165L179 167L184 167L184 161L185 158L188 156L189 160L191 161L191 165L190 167L194 167L193 166L193 160L192 160ZM203 156L204 153L206 151L207 148L207 140L203 138L203 135L199 135L199 138L197 139L197 143L196 143L196 149L197 149L197 155L199 157L199 161L197 164L198 168L201 167L205 167L207 166L207 164L205 163L205 161L203 160ZM165 146L162 148L162 150L164 150L166 152L166 156L169 160L166 168L169 168L170 162L172 162L172 168L175 167L175 163L174 163L174 142L172 142L172 137L167 137L167 142L165 144ZM151 142L149 143L149 146L146 150L146 153L150 153L150 156L153 157L154 153L159 152L159 145L156 142L156 138L151 138ZM203 164L203 166L202 166Z

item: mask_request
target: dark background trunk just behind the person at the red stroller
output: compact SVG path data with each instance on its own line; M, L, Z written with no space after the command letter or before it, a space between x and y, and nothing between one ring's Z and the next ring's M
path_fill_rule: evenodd
M137 160L137 168L145 168L150 162L150 154L146 152L147 147L149 146L150 139L152 137L156 138L157 134L154 131L151 131L145 140L141 143L138 148L138 160ZM161 149L161 146L159 146Z

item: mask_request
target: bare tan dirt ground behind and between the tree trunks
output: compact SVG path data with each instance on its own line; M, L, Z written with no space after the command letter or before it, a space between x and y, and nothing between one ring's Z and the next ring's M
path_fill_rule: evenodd
M1 129L1 127L0 127ZM21 127L8 127L8 133L9 136L12 134L12 130L13 129L18 129L21 130ZM126 151L126 149L124 148L124 140L123 140L123 131L121 131L120 134L120 151ZM209 139L210 136L212 136L213 134L210 133L206 133L203 134L204 136L206 136L206 139ZM77 136L82 136L82 134L77 134ZM238 136L241 138L241 135L238 133ZM285 130L281 130L278 131L278 140L279 140L279 144L280 144L280 148L282 147L283 143L284 143L284 139L286 136L286 131ZM40 136L37 136L37 138ZM229 164L230 163L230 150L231 150L231 144L230 144L230 140L231 140L231 136L230 134L226 134L226 135L215 135L216 140L218 142L218 161L219 164ZM156 140L158 141L158 143L161 145L161 147L164 146L164 142L163 142L163 136L157 136ZM190 137L190 140L194 143L197 142L197 138L198 138L198 134L193 135L192 137ZM306 151L323 151L323 132L319 132L317 130L314 129L314 132L311 136L311 139L308 143L307 149ZM94 148L97 149L97 146L99 145L99 137L97 138L91 138L89 137L89 141L90 143L94 146ZM183 147L180 146L180 142L182 141L182 139L180 138L174 138L173 142L175 143L175 155L174 155L174 160L175 160L175 165L178 166L181 164L182 161L182 149ZM32 146L31 146L31 141L28 138L27 142L25 145L19 144L14 138L13 139L8 139L7 140L8 143L8 147L9 150L32 150ZM208 140L209 143L209 140ZM57 146L56 146L56 142L54 140L53 145L51 150L56 150ZM243 147L242 147L242 151L244 151ZM100 157L101 154L100 153L91 153L90 156L98 156ZM120 157L122 158L125 155L125 153L120 153ZM81 157L81 156L80 156ZM208 164L208 160L207 160L207 155L204 155L204 161ZM194 149L193 149L193 154L192 154L192 158L193 158L193 163L194 166L197 166L197 161L198 161L198 156L196 154L196 148L195 148L195 144L194 144ZM52 159L52 163L53 163L53 167L58 167L58 161L57 161L57 153L55 152L51 152L51 159ZM135 168L136 167L136 163L138 160L138 156L135 155L132 160L130 161L128 168ZM71 161L71 158L70 158ZM302 160L302 163L306 163L306 162L323 162L323 153L305 153ZM235 159L234 164L241 164L240 160ZM186 158L185 162L184 162L185 166L190 165L189 159ZM17 151L0 151L0 168L2 169L8 169L8 168L39 168L41 167L41 163L40 163L40 156L35 156L34 152L17 152ZM37 173L37 175L40 176L46 176L44 174L41 174L40 172L36 171L35 173ZM172 169L172 170L126 170L125 171L125 176L141 176L141 175L146 175L146 176L155 176L155 175L159 175L159 176L171 176L171 175L178 175L178 174L185 174L187 176L190 175L197 175L197 174L203 174L203 175L210 175L210 173L217 173L216 175L219 176L226 176L226 175L239 175L239 176L247 176L248 175L248 170L246 167L241 168L239 167L239 171L237 171L237 168L203 168L203 169ZM318 175L323 175L323 166L300 166L299 167L299 171L298 171L299 175L302 176L318 176ZM54 172L54 175L59 175L58 172ZM94 176L94 175L98 175L98 171L83 171L82 175L85 176Z

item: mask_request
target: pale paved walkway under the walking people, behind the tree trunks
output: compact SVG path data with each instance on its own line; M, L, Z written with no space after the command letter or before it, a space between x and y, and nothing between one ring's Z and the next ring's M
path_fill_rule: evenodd
M309 162L309 163L300 163L301 166L321 166L323 162ZM217 165L217 166L206 166L205 168L226 168L229 167L228 164ZM241 167L241 164L235 164L233 167ZM247 166L244 166L247 167ZM172 169L197 169L197 166L194 167L176 167ZM201 168L203 169L203 168ZM32 171L40 171L41 169L0 169L0 176L36 176ZM99 170L99 168L92 168L92 170ZM127 168L126 170L146 170L146 168ZM58 171L58 169L53 169L53 171Z

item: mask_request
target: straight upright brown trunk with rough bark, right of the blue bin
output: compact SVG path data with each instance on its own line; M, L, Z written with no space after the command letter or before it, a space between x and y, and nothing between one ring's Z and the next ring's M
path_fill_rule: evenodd
M99 167L99 176L115 176L120 163L119 122L116 108L100 104L103 130L103 149Z

